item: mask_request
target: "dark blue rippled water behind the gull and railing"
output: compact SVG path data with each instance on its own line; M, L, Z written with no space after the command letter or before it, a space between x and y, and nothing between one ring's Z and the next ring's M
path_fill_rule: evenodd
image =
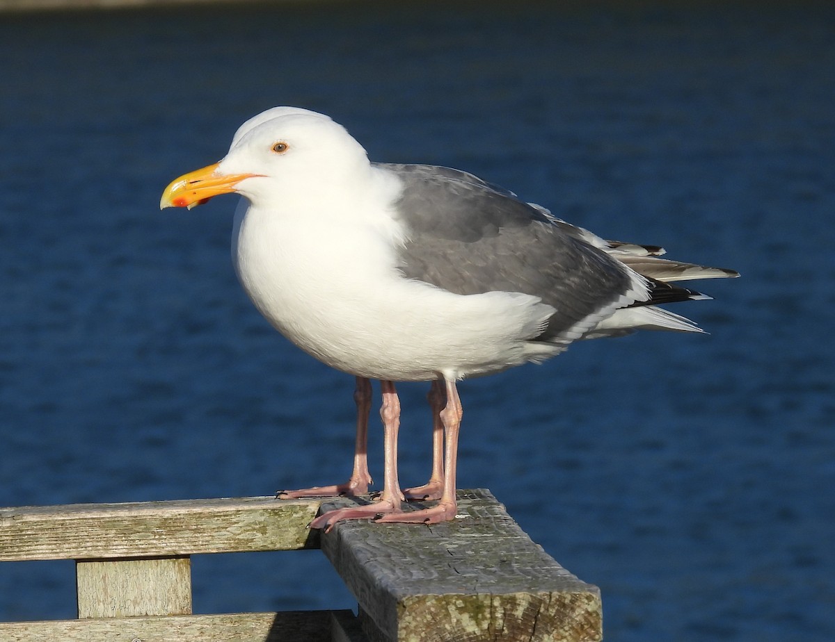
M607 639L835 639L835 8L448 5L0 16L0 505L347 476L352 378L241 293L235 198L157 208L245 118L298 105L376 160L740 270L676 308L709 336L462 384L459 482L600 585ZM417 484L425 385L401 391ZM195 559L198 612L353 604L316 551ZM0 564L0 620L73 609L72 562Z

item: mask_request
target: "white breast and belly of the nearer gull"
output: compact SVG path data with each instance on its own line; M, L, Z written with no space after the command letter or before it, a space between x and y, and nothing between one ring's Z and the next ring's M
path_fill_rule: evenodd
M527 341L553 308L519 293L460 296L402 277L377 230L264 213L236 222L233 260L259 311L344 372L427 380L497 372L559 348Z

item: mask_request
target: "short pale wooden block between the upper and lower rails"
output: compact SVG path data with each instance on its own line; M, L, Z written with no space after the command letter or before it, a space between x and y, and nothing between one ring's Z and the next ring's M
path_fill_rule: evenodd
M79 560L78 618L191 614L191 560Z

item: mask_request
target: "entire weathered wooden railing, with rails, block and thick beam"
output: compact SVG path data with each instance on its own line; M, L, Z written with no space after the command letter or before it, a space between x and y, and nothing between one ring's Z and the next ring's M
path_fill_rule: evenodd
M0 562L75 559L78 619L0 623L3 642L599 640L600 590L486 490L433 526L306 528L349 499L196 499L0 509ZM351 611L191 614L190 555L321 548ZM0 595L0 599L3 596Z

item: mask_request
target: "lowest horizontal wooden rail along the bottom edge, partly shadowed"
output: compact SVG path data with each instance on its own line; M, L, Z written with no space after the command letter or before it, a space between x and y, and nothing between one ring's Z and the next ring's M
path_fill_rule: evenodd
M332 613L332 614L331 614ZM351 611L286 611L0 623L3 642L365 642ZM346 633L347 631L347 633Z

